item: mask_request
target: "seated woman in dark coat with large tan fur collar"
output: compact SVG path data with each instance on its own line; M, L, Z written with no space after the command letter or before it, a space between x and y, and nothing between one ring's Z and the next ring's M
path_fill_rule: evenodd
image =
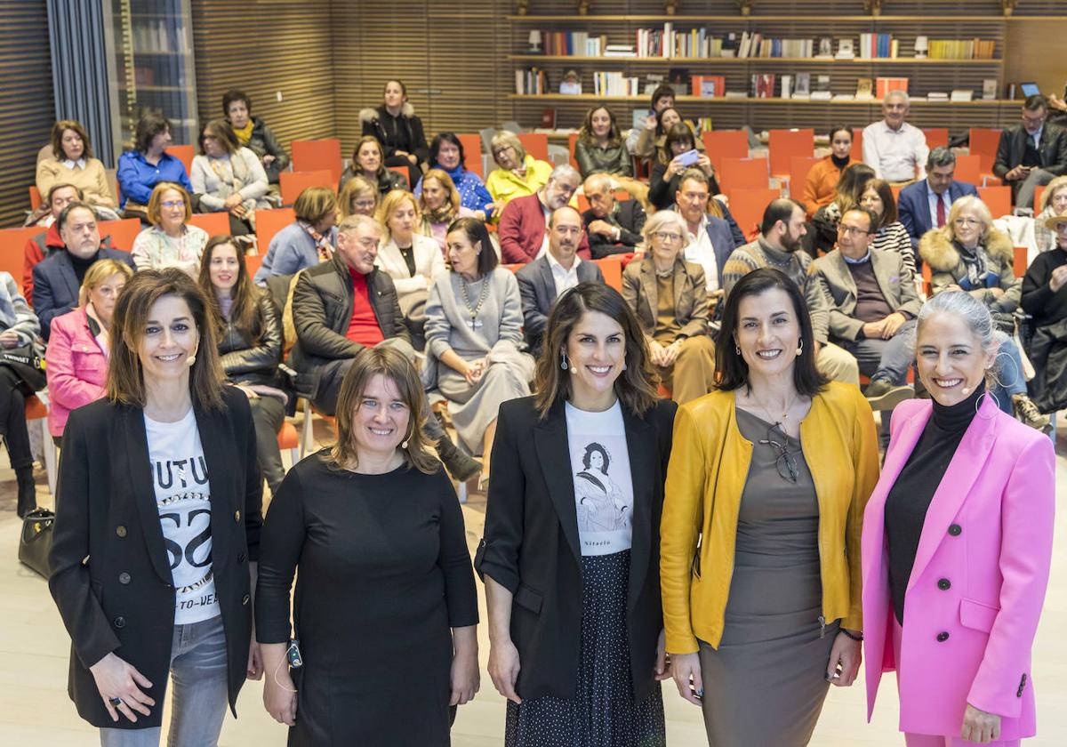
M977 197L960 197L952 204L943 228L931 228L919 242L919 253L933 273L935 296L944 290L964 290L985 304L997 325L1014 332L1013 313L1019 307L1022 279L1015 276L1015 247L1007 234L993 227L989 208ZM1026 380L1019 350L1009 338L1001 346L1013 365L1002 365L1003 381L998 402L1021 423L1046 430L1049 418L1026 396Z

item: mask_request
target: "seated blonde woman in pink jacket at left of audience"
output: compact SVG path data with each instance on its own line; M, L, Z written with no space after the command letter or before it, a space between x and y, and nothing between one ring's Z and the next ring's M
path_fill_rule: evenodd
M111 314L129 265L100 259L85 272L78 307L52 320L45 352L48 371L48 432L57 444L73 410L103 397L111 354Z

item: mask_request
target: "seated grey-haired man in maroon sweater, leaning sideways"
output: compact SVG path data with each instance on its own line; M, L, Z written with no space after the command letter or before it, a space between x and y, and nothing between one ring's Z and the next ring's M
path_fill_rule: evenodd
M500 213L500 254L505 263L525 265L544 254L548 248L548 217L567 205L582 177L574 168L563 163L552 170L548 180L537 194L515 197ZM578 256L590 259L589 241L583 236Z

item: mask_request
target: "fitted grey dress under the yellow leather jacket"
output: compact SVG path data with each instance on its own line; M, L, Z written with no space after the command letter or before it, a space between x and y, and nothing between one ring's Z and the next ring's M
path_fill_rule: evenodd
M711 747L807 745L829 684L826 667L838 633L819 624L823 587L818 499L800 442L785 436L797 481L783 478L778 451L761 440L770 424L737 408L752 442L742 493L737 544L722 640L700 643L704 724ZM784 468L783 468L784 471Z

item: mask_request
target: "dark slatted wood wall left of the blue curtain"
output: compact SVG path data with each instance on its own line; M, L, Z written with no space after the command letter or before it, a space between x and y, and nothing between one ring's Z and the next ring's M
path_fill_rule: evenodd
M0 226L30 209L36 156L55 121L48 13L42 0L0 4Z

